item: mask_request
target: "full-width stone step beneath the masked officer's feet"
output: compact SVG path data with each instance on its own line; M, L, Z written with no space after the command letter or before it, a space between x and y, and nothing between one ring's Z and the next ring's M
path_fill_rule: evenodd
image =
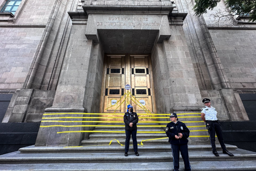
M236 149L231 151L234 156L223 154L219 151L219 157L212 154L211 151L189 151L190 161L222 161L222 160L256 160L256 153L247 150ZM135 156L134 152L129 151L128 156L124 152L116 153L41 153L41 154L22 154L18 151L0 156L0 164L3 163L89 163L89 162L171 162L173 160L172 152L143 152L139 151L140 156ZM180 160L182 157L180 155ZM241 162L242 163L242 162Z

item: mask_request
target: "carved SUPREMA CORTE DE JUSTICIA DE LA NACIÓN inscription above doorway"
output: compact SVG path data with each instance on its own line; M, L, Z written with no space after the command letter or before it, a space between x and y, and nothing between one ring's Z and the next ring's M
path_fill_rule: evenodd
M142 18L142 17L109 17L108 22L97 22L98 25L155 25L158 26L160 23L157 22L150 22L148 21L148 18ZM114 22L113 22L114 21Z

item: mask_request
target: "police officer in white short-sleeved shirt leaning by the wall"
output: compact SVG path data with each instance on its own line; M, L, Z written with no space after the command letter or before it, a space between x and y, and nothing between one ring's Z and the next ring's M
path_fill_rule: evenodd
M230 153L224 144L223 141L223 136L222 136L222 129L220 126L219 119L217 119L217 111L216 109L211 106L211 100L210 99L203 99L203 103L205 107L201 109L201 118L203 119L204 122L206 122L206 129L208 129L208 132L210 134L210 142L212 146L212 153L215 156L219 156L216 146L215 146L215 132L219 140L219 144L222 148L222 152L224 154L234 156L232 153Z

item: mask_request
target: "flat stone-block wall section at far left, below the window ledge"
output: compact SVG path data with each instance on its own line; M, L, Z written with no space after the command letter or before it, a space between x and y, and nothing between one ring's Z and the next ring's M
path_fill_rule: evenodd
M0 89L22 88L43 30L0 25Z

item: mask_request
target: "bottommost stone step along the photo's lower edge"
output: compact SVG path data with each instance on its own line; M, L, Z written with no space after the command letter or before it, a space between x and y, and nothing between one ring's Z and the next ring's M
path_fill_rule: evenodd
M128 156L129 157L129 156ZM223 160L223 161L191 161L193 171L247 171L256 170L256 160ZM231 167L232 166L232 167ZM170 171L172 162L123 162L123 163L31 163L31 164L0 164L0 171ZM180 171L184 171L184 164L180 162Z

